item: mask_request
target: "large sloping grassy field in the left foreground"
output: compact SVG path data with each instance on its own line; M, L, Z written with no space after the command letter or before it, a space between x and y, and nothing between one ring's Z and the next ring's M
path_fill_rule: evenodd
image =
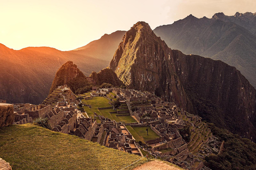
M122 169L141 158L33 124L0 128L0 156L13 169Z

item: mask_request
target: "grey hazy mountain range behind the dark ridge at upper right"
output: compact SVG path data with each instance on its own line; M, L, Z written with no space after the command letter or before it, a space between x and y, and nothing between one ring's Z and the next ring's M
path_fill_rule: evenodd
M244 14L247 15L249 13ZM253 33L256 24L255 15L250 15L252 19L241 18L242 15L229 17L223 13L214 14L212 19L189 15L173 24L157 27L154 32L172 49L235 66L256 87L256 36Z

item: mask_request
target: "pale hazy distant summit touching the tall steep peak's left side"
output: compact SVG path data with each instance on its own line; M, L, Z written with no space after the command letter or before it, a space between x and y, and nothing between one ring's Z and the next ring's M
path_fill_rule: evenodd
M126 31L116 31L110 35L105 34L100 39L94 40L86 46L74 50L77 50L80 54L86 54L87 56L99 59L104 58L104 60L111 61L125 32Z

